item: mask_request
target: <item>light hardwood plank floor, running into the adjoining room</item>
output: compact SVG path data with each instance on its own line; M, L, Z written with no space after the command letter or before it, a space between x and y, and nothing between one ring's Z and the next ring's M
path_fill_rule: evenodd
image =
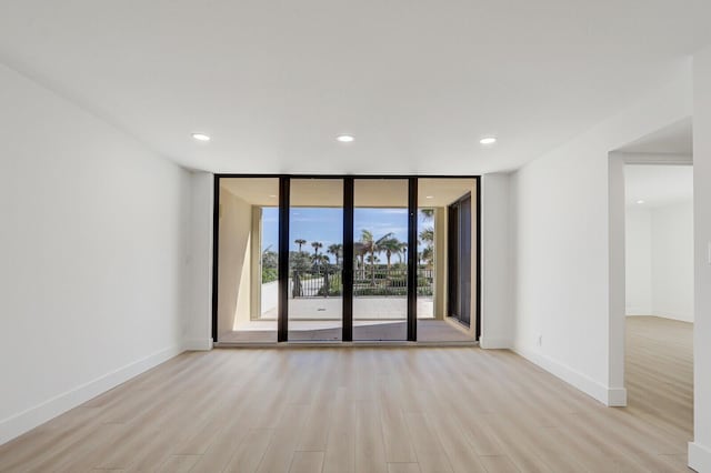
M214 350L1 446L0 471L685 471L687 348L643 322L630 324L627 409L508 351Z

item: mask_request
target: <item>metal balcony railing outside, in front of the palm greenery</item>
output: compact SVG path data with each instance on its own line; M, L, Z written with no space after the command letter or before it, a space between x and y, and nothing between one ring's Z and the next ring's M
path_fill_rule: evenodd
M291 270L289 295L291 298L328 298L343 293L341 266ZM433 271L418 269L418 295L432 295ZM353 272L354 296L405 296L408 295L408 270L402 268L358 268Z

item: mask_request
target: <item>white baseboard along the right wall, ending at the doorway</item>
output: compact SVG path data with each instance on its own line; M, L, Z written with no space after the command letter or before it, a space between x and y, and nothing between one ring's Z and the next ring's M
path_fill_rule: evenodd
M605 386L604 384L597 382L588 375L573 370L567 364L561 363L542 353L538 353L534 350L530 350L523 346L514 346L512 350L530 362L538 364L549 373L560 378L568 384L572 384L589 396L600 401L604 405L608 405L610 407L620 407L627 405L627 390L624 388Z

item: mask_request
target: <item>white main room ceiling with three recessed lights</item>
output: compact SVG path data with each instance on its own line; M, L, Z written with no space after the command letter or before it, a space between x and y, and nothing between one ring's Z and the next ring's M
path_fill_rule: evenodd
M191 168L469 174L668 80L710 18L709 0L2 0L0 61Z

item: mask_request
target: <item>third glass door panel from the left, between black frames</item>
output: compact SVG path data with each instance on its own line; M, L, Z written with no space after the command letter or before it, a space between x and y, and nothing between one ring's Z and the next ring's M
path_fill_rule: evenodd
M407 340L408 180L353 183L353 340Z

